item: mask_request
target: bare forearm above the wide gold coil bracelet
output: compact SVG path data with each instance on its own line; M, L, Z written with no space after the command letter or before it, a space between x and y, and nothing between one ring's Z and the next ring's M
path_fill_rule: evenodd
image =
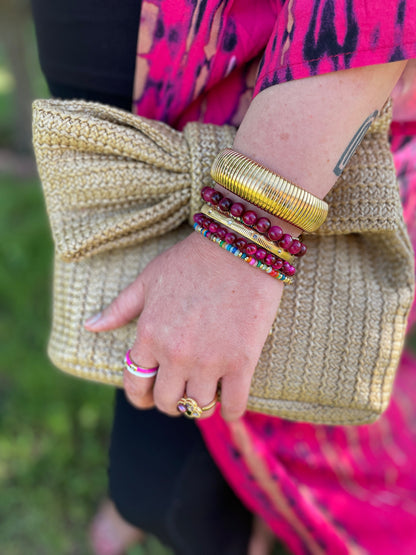
M350 69L270 87L252 101L233 148L323 198L405 64ZM299 233L290 224L282 227Z

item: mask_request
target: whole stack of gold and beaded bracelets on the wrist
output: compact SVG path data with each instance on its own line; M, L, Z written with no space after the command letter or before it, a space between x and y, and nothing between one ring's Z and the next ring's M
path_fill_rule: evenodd
M324 201L234 150L218 154L211 176L225 189L301 230L315 231L325 221ZM296 269L291 263L306 253L301 240L213 187L204 187L201 197L205 204L194 215L195 231L275 279L292 283Z

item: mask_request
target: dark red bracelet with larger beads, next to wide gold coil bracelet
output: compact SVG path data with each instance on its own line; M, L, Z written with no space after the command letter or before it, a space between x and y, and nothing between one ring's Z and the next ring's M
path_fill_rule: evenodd
M254 210L246 210L241 202L233 202L213 187L204 187L201 190L201 198L220 213L230 216L248 228L254 228L289 254L301 257L306 253L306 245L299 239L283 233L283 229L278 225L272 226L268 218L259 218Z

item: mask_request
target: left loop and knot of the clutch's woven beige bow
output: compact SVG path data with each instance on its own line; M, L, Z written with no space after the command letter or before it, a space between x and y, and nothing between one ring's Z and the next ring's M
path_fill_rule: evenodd
M36 100L33 142L58 256L79 260L179 227L234 135L230 126L180 132L99 103Z

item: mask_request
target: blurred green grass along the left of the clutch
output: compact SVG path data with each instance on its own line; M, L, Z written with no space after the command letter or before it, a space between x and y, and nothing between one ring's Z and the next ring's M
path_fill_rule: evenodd
M35 180L0 177L0 237L0 552L88 554L113 390L47 360L52 244ZM147 553L168 552L152 539Z

